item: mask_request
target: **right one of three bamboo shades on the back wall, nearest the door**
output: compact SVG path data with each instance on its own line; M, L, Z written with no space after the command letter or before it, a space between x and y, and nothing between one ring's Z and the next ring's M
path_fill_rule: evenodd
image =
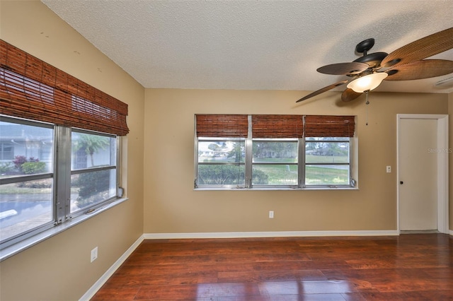
M354 132L354 116L304 116L304 135L306 137L353 137Z

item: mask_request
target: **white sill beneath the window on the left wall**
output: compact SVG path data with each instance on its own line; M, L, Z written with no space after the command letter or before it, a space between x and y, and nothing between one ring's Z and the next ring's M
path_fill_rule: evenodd
M71 220L68 220L67 222L64 222L60 225L56 225L55 227L52 227L48 230L42 231L37 235L33 235L32 237L22 240L21 242L17 242L16 244L12 244L11 246L5 247L4 249L0 250L0 261L4 261L5 259L8 259L13 255L18 254L19 252L22 252L25 249L28 249L29 247L33 247L35 244L47 240L48 238L55 236L63 232L64 230L74 227L75 225L84 222L84 220L88 220L88 218L97 216L99 213L102 213L114 206L117 206L118 204L124 201L127 201L127 198L115 199L114 201L97 208L95 211L91 213L82 214L81 216L77 216Z

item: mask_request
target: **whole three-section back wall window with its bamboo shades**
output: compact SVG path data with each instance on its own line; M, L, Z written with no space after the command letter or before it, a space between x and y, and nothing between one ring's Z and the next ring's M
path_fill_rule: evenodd
M195 188L355 187L353 116L195 115L195 127Z

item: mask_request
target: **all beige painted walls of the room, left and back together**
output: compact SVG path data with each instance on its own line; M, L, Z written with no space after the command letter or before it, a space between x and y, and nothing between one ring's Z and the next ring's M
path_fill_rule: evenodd
M39 1L1 1L0 28L6 42L127 102L130 126L129 201L1 262L0 300L77 300L143 232L395 230L396 172L385 166L396 167L396 114L453 112L452 94L371 93L368 107L341 107L339 93L297 105L305 93L145 90ZM360 190L193 191L196 113L357 114Z

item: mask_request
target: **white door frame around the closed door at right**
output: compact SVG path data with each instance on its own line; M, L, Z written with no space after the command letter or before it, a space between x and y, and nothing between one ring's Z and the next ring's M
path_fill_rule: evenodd
M448 145L448 115L447 114L396 114L396 220L398 234L401 233L399 224L399 127L401 119L436 119L437 120L437 231L449 233L448 214L448 156L451 151Z

